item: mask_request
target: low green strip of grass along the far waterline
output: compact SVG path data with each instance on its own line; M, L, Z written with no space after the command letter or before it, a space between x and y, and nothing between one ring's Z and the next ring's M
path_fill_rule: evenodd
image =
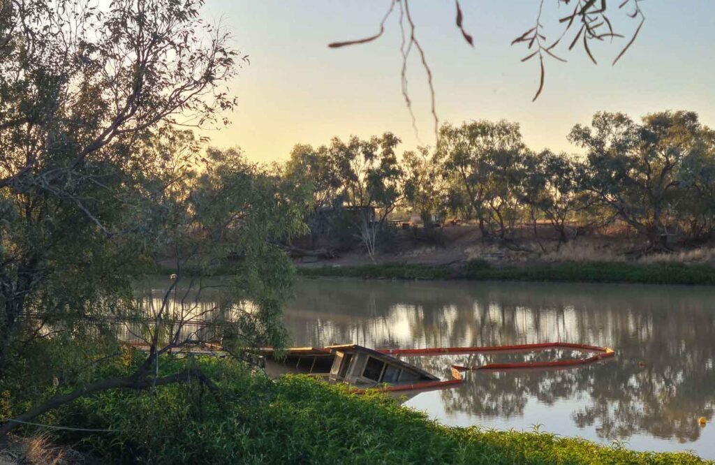
M683 263L564 262L523 266L496 266L480 260L456 268L446 265L388 264L298 268L298 274L316 278L524 280L563 283L645 283L715 285L715 267Z

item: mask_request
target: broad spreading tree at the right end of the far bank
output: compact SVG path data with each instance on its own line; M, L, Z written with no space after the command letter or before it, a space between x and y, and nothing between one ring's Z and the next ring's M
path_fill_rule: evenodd
M648 240L667 250L675 213L686 193L684 162L708 150L709 129L694 112L659 112L641 124L622 113L597 113L569 139L586 149L587 188Z

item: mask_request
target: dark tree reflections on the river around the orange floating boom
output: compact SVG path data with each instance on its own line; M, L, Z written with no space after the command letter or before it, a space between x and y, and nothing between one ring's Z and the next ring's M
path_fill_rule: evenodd
M521 415L530 396L547 404L582 396L585 405L572 419L598 425L601 437L647 431L694 441L701 433L696 417L711 420L715 404L713 301L711 288L306 280L286 318L297 343L315 346L612 346L613 363L470 373L440 395L447 411L507 418ZM445 366L427 368L442 373Z

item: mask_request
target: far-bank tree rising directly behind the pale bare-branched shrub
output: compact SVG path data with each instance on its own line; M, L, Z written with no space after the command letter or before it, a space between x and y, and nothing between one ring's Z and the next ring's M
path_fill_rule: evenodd
M343 205L371 260L378 233L404 195L404 173L395 153L399 144L391 132L368 140L352 136L347 142L335 137L330 144Z

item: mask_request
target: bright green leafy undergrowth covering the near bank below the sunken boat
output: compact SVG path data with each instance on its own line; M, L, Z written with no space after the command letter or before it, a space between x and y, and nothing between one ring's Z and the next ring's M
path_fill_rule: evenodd
M184 363L164 361L162 372ZM195 385L112 391L75 401L41 421L109 430L59 431L53 441L112 463L712 463L691 454L628 451L551 434L441 426L378 393L355 396L304 376L272 382L227 359L188 363L216 381L220 398Z

